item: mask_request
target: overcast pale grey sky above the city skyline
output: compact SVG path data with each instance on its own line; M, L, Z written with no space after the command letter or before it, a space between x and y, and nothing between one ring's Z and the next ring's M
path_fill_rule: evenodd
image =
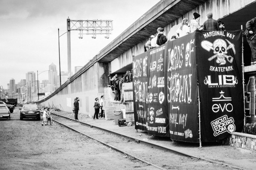
M7 88L11 78L15 83L26 79L28 71L48 70L54 63L59 74L58 28L67 32L71 20L111 19L113 31L104 35L78 38L71 31L71 71L84 66L99 51L132 25L159 0L0 0L0 85ZM60 69L68 71L67 34L60 37ZM38 76L48 79L48 72Z

